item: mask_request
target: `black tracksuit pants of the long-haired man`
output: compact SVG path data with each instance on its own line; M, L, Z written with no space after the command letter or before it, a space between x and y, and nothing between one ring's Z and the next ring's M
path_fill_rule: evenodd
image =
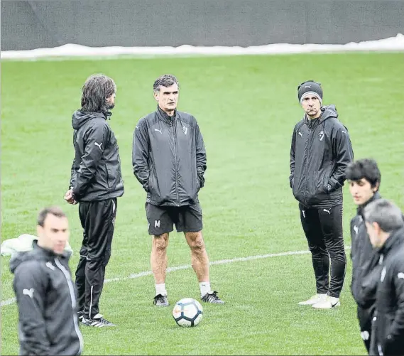
M85 318L94 318L99 313L105 266L111 257L116 198L81 202L79 215L83 242L76 270L77 304Z

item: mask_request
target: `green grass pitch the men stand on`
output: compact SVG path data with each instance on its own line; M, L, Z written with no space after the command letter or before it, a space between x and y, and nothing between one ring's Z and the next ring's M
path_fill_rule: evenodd
M71 114L88 75L104 72L118 92L116 133L125 194L119 199L107 278L148 271L145 193L131 168L133 129L155 109L152 85L170 72L181 85L179 109L197 117L207 148L206 186L200 193L204 239L211 261L307 249L289 188L293 126L302 117L300 82L322 82L324 104L336 104L349 128L355 158L373 157L381 193L404 206L404 60L395 54L280 55L4 62L1 65L1 238L35 233L45 205L62 205L70 218L75 254L81 244L77 206L64 203L73 157ZM355 207L344 188L345 242ZM170 266L190 264L182 234L170 236ZM9 258L1 258L1 301L13 297ZM197 328L175 325L171 308L152 306L152 276L105 285L101 311L119 326L82 328L85 355L364 355L351 264L342 307L297 306L315 292L309 254L213 265L212 286L227 302L204 305ZM170 302L199 298L192 269L168 274ZM1 308L3 355L18 353L16 305Z

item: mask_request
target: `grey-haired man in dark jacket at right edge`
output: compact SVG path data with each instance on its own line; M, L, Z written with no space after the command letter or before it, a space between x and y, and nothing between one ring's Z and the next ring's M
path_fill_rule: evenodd
M404 355L404 220L386 199L369 203L366 230L380 254L369 355Z

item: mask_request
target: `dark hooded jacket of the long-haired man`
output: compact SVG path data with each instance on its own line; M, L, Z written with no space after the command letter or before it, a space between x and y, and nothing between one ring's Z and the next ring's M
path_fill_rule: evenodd
M76 111L70 188L76 201L105 200L124 194L121 159L114 132L104 114Z

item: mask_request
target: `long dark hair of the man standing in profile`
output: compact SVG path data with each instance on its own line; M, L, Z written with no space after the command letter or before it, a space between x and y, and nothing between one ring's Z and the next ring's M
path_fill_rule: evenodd
M82 87L82 112L109 114L107 98L114 95L116 85L107 75L94 74L87 78Z

